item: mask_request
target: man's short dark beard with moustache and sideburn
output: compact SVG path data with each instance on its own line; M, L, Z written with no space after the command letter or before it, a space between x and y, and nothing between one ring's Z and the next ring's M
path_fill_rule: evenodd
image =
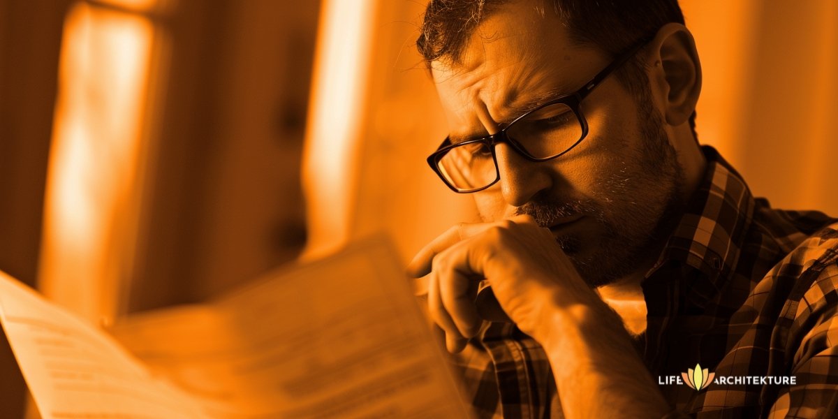
M536 197L515 210L515 215L530 215L542 227L574 215L597 222L596 236L570 233L556 238L590 287L650 268L683 212L684 170L649 95L640 95L638 114L641 147L601 175L592 199Z

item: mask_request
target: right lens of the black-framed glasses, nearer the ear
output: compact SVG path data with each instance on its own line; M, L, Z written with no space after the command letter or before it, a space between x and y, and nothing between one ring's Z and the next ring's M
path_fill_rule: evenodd
M548 105L530 112L506 132L532 158L551 158L566 152L582 138L582 122L570 106Z

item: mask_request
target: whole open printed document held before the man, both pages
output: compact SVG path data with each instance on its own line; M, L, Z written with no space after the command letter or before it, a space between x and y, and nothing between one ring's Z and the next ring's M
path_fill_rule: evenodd
M45 418L470 416L383 239L110 333L3 275L0 320Z

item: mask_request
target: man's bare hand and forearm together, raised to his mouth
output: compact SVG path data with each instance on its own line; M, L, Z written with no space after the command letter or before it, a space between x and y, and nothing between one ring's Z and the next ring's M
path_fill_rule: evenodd
M478 333L474 293L488 280L504 312L545 349L566 417L669 411L618 315L530 216L454 226L419 251L408 272L427 275L428 311L451 352Z

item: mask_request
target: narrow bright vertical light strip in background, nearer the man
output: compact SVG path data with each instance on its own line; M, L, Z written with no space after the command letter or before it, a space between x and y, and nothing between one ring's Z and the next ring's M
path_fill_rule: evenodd
M321 6L303 155L307 256L326 253L349 238L377 4L325 0Z

